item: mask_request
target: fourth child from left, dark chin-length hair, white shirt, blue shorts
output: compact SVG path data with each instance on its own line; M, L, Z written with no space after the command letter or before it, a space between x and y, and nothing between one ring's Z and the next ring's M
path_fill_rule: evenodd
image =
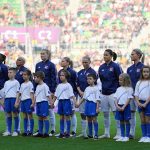
M58 114L60 115L60 135L59 138L70 136L70 126L71 126L71 115L72 115L72 104L71 99L76 103L73 88L68 79L70 74L67 70L61 70L59 74L59 79L61 83L57 86L53 102L58 100ZM67 131L64 134L64 123L66 121Z

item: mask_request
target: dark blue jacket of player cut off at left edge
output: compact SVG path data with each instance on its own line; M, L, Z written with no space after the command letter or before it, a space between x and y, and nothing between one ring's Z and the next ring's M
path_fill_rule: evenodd
M4 84L7 80L8 80L8 67L0 62L0 90L4 87Z

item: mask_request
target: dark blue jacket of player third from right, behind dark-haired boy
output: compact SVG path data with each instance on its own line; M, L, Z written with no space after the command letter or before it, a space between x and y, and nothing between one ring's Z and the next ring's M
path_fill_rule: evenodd
M79 87L82 92L84 92L84 90L89 86L87 83L88 74L95 74L97 76L96 71L91 67L87 70L82 69L77 74L77 87Z

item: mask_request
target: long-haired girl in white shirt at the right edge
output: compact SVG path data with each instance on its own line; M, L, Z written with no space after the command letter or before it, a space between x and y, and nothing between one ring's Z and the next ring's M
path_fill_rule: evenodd
M150 67L144 66L135 87L135 100L141 119L142 137L139 142L150 143Z

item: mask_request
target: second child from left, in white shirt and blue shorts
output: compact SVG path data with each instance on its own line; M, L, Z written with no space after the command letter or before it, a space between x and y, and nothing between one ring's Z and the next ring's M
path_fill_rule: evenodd
M33 84L30 81L31 79L31 71L26 70L23 72L24 83L21 84L19 96L16 101L16 107L19 106L21 100L21 112L23 113L23 123L24 123L24 133L23 136L32 135L34 128L34 120L32 112L34 110L34 89ZM28 121L30 122L30 131L27 131Z

